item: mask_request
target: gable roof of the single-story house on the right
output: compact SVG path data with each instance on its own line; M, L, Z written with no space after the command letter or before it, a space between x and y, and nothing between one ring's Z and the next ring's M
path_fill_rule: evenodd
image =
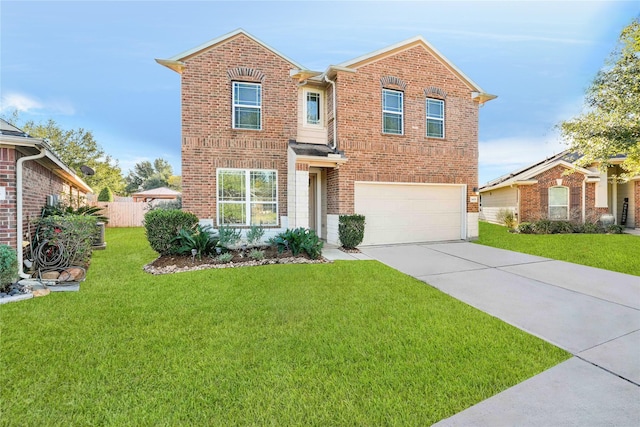
M509 187L511 185L535 184L536 181L533 180L535 176L558 165L564 166L567 169L575 169L576 172L587 176L599 176L598 172L592 172L589 169L581 168L575 165L575 162L581 157L582 155L578 153L570 150L565 150L540 162L533 163L522 169L518 169L515 172L489 181L485 185L480 187L480 192L482 193L484 191L496 190L498 188Z

